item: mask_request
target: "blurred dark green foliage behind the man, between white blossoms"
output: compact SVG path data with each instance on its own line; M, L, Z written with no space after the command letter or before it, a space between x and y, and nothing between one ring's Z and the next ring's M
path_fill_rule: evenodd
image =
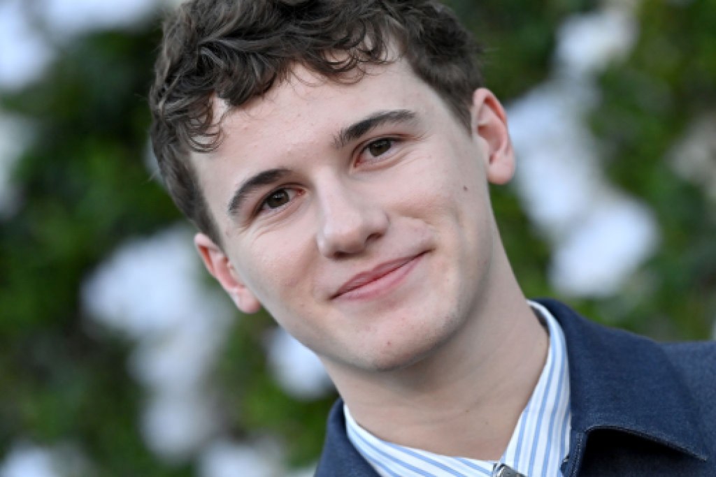
M555 31L587 0L450 4L489 46L488 84L508 102L551 67ZM662 247L615 296L571 300L586 315L660 339L708 338L716 317L716 207L664 160L692 119L716 110L716 4L644 0L641 34L600 79L590 118L611 180L652 207ZM130 237L180 220L145 166L146 94L158 22L102 31L62 47L43 79L0 92L5 112L32 119L34 140L14 182L21 207L0 219L0 461L19 439L79 444L100 476L190 476L192 461L163 463L142 442L142 390L127 374L130 343L90 332L79 283ZM716 160L716 159L714 159ZM493 202L508 254L529 296L555 295L551 250L509 187ZM158 285L159 286L159 285ZM233 435L274 433L289 464L319 453L332 397L299 402L267 372L267 316L236 320L216 379Z

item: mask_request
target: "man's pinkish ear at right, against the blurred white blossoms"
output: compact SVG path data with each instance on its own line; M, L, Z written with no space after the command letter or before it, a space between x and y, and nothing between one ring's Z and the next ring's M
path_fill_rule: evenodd
M473 93L472 130L487 144L485 167L488 181L505 184L515 174L515 153L507 129L507 114L489 89Z

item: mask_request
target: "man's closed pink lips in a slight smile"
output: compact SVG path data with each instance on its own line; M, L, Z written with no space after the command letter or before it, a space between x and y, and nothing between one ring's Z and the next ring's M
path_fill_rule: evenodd
M366 272L360 272L345 282L332 299L356 300L374 297L397 286L417 265L425 252L384 262Z

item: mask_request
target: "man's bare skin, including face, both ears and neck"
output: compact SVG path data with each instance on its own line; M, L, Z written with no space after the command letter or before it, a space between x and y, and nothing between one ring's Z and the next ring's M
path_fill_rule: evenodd
M514 172L505 113L478 89L468 131L405 62L368 72L296 67L228 112L221 147L191 159L223 244L195 244L240 310L314 350L364 428L499 458L548 343L490 206Z

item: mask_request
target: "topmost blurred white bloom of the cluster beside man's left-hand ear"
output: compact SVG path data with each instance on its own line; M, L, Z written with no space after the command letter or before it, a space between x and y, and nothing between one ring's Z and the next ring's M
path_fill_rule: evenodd
M194 320L227 321L226 300L200 282L192 243L182 225L123 245L82 285L84 308L135 339L164 335Z

